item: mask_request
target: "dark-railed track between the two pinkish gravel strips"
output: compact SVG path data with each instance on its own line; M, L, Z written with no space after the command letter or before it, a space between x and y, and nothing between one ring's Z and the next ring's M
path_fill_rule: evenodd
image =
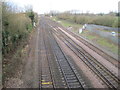
M78 44L67 37L60 30L54 30L53 33L61 40L109 87L116 89L119 80L107 68L97 62L93 57L87 54ZM62 35L62 36L60 36ZM62 38L63 37L63 38Z

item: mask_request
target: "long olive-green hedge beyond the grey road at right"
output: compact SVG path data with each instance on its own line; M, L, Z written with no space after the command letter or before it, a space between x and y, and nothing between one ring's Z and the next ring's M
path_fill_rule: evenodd
M70 14L70 13L63 13L57 16L59 19L69 20L71 22L77 24L96 24L96 25L103 25L109 27L120 27L118 24L117 17L114 15L96 15L96 14Z

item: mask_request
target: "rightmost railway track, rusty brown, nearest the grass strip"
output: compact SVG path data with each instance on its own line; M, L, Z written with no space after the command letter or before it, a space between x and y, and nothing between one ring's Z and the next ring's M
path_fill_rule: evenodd
M62 25L60 25L57 22L51 21L50 19L48 19L49 23L52 23L51 25L53 26L59 26L61 28L63 28L63 30L67 31L67 33L69 33L70 35L72 35L73 37L75 37L78 41L82 42L83 44L85 44L87 47L91 48L93 51L95 51L96 53L98 53L100 56L102 56L103 58L105 58L106 60L108 60L109 62L111 62L113 65L115 65L117 68L120 68L119 64L120 61L116 60L114 57L108 55L107 53L105 53L103 50L99 49L98 47L94 46L93 44L91 44L90 42L86 41L84 38L82 38L81 36L78 36L77 34L67 30L65 27L63 27Z

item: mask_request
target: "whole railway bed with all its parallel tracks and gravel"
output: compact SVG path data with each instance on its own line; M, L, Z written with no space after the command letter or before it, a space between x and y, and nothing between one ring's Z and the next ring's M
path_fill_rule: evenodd
M78 38L60 24L41 17L21 79L11 87L117 88L117 60L110 62L109 56Z

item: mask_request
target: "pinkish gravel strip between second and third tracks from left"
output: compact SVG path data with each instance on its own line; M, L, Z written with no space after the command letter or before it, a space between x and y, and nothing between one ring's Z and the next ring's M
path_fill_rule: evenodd
M62 50L68 55L71 56L75 64L82 70L83 74L87 77L88 82L91 82L92 88L105 88L103 82L97 78L97 76L91 72L91 70L85 65L85 63L79 59L60 39L56 37Z

